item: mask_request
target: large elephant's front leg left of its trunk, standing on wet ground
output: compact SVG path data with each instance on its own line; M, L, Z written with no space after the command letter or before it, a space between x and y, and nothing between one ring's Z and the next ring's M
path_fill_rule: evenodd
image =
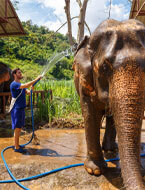
M80 100L87 142L87 159L84 164L85 169L90 174L100 175L107 166L100 146L102 112L101 109L97 107L96 102L93 103L89 96L80 93Z

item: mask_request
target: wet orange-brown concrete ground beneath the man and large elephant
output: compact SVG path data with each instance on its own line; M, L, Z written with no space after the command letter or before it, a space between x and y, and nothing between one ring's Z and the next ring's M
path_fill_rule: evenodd
M143 125L145 126L145 125ZM142 131L142 152L145 153L145 127ZM101 139L104 129L101 130ZM7 164L17 178L37 175L67 166L83 163L86 156L86 142L84 129L43 129L36 131L37 139L26 147L26 153L15 153L13 149L5 152ZM22 135L21 144L28 142L31 135ZM13 138L0 138L0 151L13 145ZM145 158L142 158L145 168ZM0 180L10 179L2 159L0 158ZM22 182L32 190L79 190L124 189L119 169L119 162L108 163L108 169L99 177L89 175L83 166L63 170L37 180ZM1 190L21 189L15 183L0 184Z

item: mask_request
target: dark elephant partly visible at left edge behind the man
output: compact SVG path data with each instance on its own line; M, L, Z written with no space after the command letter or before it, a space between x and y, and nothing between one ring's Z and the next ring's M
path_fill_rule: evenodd
M1 92L10 92L10 84L13 81L13 77L11 75L11 69L2 62L0 62L0 93ZM6 97L7 104L8 97ZM0 96L0 114L3 113L3 99Z

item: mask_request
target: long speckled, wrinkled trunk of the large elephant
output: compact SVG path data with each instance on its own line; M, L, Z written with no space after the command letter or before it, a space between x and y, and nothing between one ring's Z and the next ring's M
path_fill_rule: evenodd
M140 174L140 138L144 113L144 73L137 65L116 70L110 102L118 135L121 170L128 190L145 189Z

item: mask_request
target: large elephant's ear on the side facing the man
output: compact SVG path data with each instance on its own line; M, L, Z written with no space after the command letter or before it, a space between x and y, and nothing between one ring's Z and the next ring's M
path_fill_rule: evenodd
M92 96L94 92L93 84L93 70L91 65L91 57L89 52L89 40L88 36L79 44L73 63L74 81L78 94L80 94L80 86L83 89L83 93Z

